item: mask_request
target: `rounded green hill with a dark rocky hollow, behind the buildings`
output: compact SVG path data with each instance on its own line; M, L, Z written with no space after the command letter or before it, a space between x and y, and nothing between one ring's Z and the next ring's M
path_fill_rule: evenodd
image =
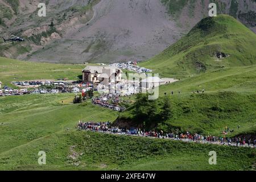
M141 63L166 77L256 63L256 35L229 15L205 18L178 42ZM220 57L220 55L222 57Z

